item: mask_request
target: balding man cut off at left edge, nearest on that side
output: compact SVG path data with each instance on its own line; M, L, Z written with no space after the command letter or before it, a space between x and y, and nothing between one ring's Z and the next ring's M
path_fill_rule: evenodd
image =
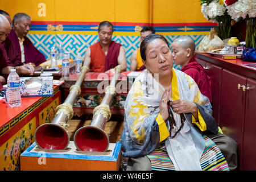
M10 30L11 26L9 21L5 18L5 16L0 14L0 82L2 85L6 84L6 77L9 75L10 70L14 68L13 63L11 63L9 57L7 56L6 50L2 44L5 41L8 34L10 33ZM26 70L24 65L15 68L18 74Z

